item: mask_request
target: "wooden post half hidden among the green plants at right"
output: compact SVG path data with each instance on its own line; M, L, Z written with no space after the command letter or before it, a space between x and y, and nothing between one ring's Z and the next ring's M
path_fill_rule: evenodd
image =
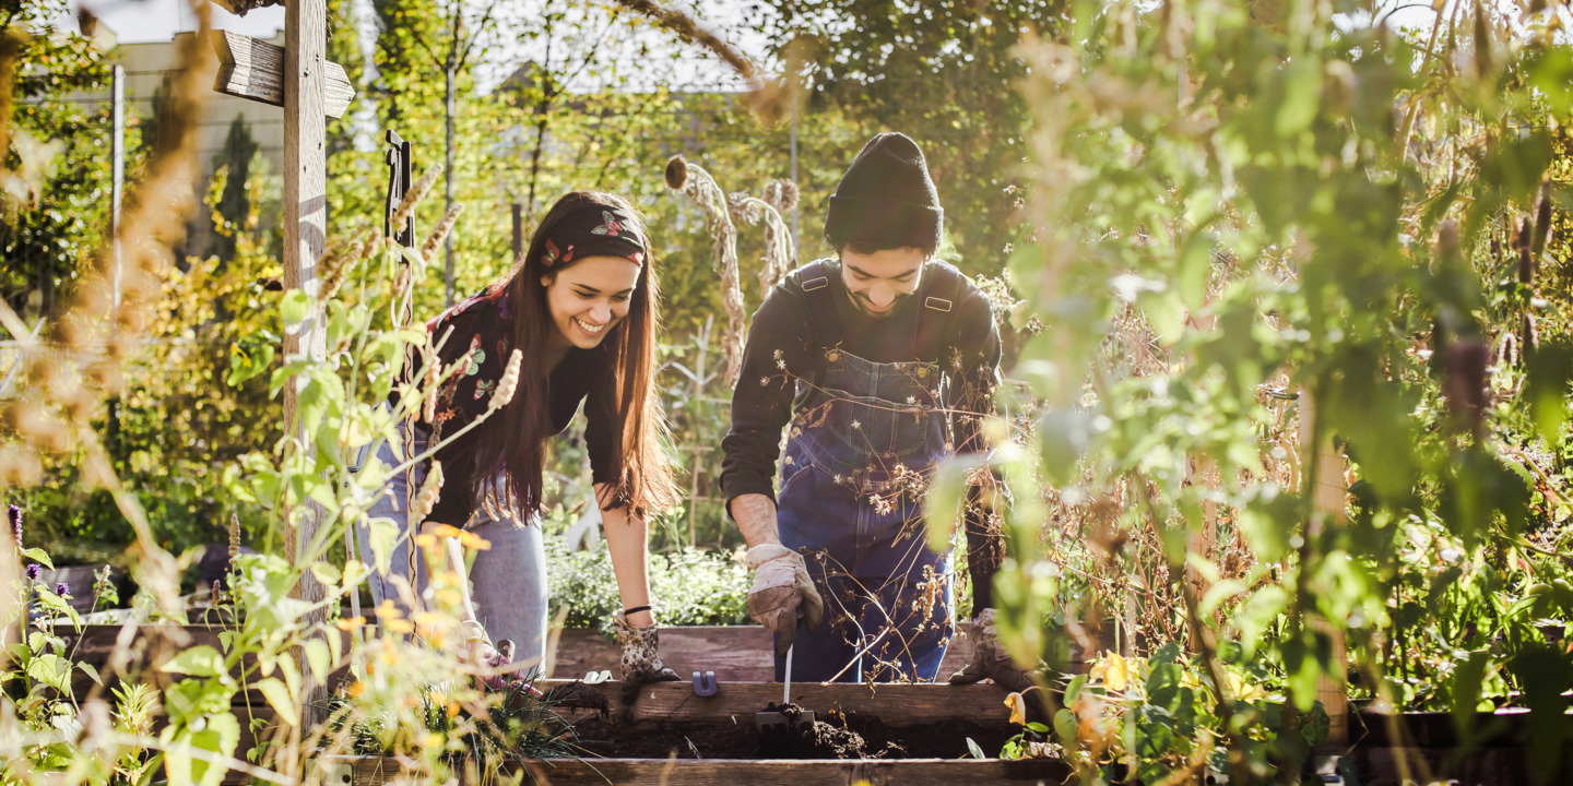
M1315 402L1310 390L1299 391L1299 451L1302 456L1301 478L1317 478L1317 486L1307 489L1312 505L1312 530L1306 538L1312 538L1321 527L1337 527L1343 522L1343 503L1348 486L1343 481L1343 456L1332 450L1332 439L1323 437L1320 443L1312 443L1315 423ZM1312 470L1315 462L1315 470ZM1320 522L1320 527L1318 527ZM1350 742L1350 703L1343 690L1343 674L1348 671L1348 649L1343 638L1343 626L1329 624L1320 615L1307 615L1306 627L1318 630L1332 638L1332 663L1329 671L1317 684L1317 701L1328 711L1326 747L1345 747Z

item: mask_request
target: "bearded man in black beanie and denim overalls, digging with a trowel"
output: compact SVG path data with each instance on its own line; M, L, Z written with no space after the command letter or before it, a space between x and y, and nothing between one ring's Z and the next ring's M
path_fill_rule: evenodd
M939 461L983 448L969 413L988 412L1000 346L983 292L934 259L942 225L922 151L879 134L831 196L837 258L788 274L753 314L720 483L777 679L791 649L793 679L928 682L955 630L950 556L926 545L922 497ZM1000 534L966 531L980 635L952 682L1024 687L988 608Z

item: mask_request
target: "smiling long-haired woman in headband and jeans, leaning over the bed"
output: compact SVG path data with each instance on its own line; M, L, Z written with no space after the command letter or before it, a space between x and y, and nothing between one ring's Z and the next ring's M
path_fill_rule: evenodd
M440 497L422 523L422 531L451 525L491 542L475 555L469 575L473 604L470 597L462 602L466 637L481 654L489 654L486 638L507 638L518 646L518 662L544 657L546 553L533 522L541 505L544 443L568 428L584 402L595 497L623 605L613 627L623 646L624 690L678 679L656 651L645 571L645 512L676 500L651 396L658 297L645 228L632 206L607 193L576 192L546 214L507 281L426 324L442 369L462 368L442 382L436 407L412 407L417 412L404 456L418 456L428 443L458 434L488 412L508 357L514 347L522 354L514 396L433 456L442 464ZM398 465L389 446L379 456L389 467ZM428 467L417 465L411 476L400 473L368 516L407 522L406 503ZM370 553L365 528L360 541L362 553ZM458 542L444 541L450 564L462 571ZM373 577L379 605L400 601L395 585L407 586L406 545L401 542L392 560L398 575Z

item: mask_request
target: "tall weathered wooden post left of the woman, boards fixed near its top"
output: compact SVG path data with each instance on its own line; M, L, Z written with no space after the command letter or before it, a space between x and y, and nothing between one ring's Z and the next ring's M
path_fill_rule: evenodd
M285 289L300 289L311 302L311 316L296 333L285 333L285 355L308 352L321 357L326 351L321 311L316 305L316 266L327 242L327 127L324 123L327 88L327 3L326 0L291 0L285 11ZM302 450L313 451L311 439L300 432L297 410L297 377L285 385L285 428L302 437ZM304 500L300 509L285 520L286 553L299 563L322 523L322 508ZM304 571L296 597L316 604L324 597L322 585L311 571ZM326 624L322 608L304 623ZM302 662L304 665L304 662ZM300 726L310 729L324 720L326 690L315 684L308 668L305 696L300 703Z

